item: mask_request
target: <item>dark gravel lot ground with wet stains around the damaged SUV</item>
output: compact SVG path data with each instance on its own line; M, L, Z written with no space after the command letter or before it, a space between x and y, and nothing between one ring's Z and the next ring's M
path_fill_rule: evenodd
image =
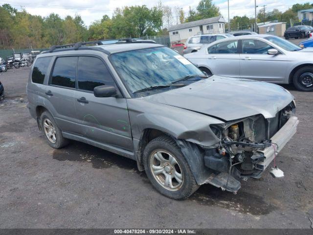
M188 200L154 190L132 160L72 141L51 148L26 108L29 68L0 73L0 228L310 228L313 95L296 98L298 131L277 157L285 172L242 182L237 195L210 185Z

